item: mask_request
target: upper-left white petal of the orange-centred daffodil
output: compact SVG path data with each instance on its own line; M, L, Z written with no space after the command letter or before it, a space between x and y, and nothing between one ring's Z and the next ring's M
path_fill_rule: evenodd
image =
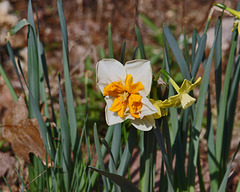
M104 87L114 81L121 80L123 83L126 79L124 66L115 59L103 59L96 65L97 85L102 91Z

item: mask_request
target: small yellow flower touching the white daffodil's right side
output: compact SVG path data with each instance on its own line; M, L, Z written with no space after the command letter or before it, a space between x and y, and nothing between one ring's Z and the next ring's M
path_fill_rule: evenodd
M158 110L157 113L153 114L154 119L159 119L162 116L167 115L166 108L172 107L173 104L170 103L167 99L162 100L153 100L149 99L149 101L153 104L153 106Z

